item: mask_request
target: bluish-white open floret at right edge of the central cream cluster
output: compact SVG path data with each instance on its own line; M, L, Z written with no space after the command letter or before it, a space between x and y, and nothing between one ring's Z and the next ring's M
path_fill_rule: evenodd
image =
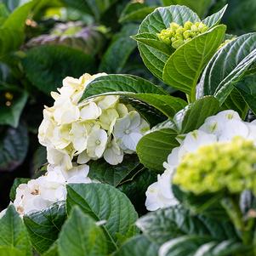
M148 129L149 124L139 116L139 113L131 111L125 117L117 119L113 134L122 150L136 151L139 139Z

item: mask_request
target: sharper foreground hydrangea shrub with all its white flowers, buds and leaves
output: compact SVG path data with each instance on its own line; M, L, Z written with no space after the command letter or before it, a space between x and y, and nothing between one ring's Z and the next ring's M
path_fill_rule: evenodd
M51 93L48 163L14 183L0 254L256 255L256 35L230 40L225 9L145 17L133 38L157 85L86 73Z

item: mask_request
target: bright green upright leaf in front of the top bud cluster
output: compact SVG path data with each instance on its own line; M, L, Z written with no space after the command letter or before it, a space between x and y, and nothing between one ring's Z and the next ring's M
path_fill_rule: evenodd
M163 70L163 81L196 99L196 84L225 36L225 26L215 26L194 37L170 56Z

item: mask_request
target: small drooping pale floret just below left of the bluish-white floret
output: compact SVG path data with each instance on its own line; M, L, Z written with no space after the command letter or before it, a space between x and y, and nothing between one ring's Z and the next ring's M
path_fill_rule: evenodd
M111 165L117 165L122 162L123 151L117 145L115 139L112 139L107 145L104 151L104 159Z

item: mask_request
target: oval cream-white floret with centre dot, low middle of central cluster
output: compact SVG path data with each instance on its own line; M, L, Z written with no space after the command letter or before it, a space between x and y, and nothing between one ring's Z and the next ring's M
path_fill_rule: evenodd
M90 157L100 158L105 151L107 134L103 129L94 129L88 134L87 152Z

